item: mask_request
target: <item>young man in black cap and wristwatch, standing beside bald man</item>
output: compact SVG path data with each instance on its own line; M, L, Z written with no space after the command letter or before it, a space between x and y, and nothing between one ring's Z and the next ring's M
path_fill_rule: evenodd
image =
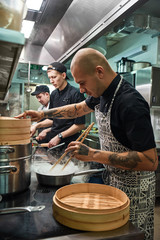
M47 74L50 83L55 87L50 96L49 108L64 106L67 104L83 101L84 95L78 89L71 86L67 82L67 69L60 62L54 62L48 66ZM35 91L36 92L36 91ZM48 147L56 146L62 142L66 147L69 142L76 140L80 131L85 128L85 117L76 119L46 119L43 122L38 122L32 128L32 135L41 127L50 127L42 131L37 140L40 143L48 143Z

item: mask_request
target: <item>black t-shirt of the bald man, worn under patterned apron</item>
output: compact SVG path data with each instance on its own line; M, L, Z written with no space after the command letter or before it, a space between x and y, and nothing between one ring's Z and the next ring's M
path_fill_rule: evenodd
M88 107L94 110L100 103L100 111L106 113L120 78L120 75L117 75L100 98L88 97ZM133 151L145 151L156 147L148 103L124 79L112 105L111 130L122 145Z

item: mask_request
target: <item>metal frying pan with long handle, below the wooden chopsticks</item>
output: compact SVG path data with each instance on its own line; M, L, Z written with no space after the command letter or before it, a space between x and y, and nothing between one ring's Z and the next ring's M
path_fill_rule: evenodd
M70 184L72 178L75 176L99 173L99 172L103 172L104 170L105 170L105 168L89 169L89 170L80 171L80 172L71 171L68 174L62 174L62 175L53 175L52 173L50 173L50 175L42 174L42 173L38 172L37 170L35 172L36 172L38 182L42 185L64 186L64 185Z

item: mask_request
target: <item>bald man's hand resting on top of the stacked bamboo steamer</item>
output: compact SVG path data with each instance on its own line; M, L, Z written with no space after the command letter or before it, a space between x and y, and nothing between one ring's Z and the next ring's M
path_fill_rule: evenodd
M24 118L26 119L27 116L31 117L31 121L40 121L42 118L44 118L44 112L43 111L33 111L33 110L27 110L24 113L19 114L18 116L15 116L15 118Z

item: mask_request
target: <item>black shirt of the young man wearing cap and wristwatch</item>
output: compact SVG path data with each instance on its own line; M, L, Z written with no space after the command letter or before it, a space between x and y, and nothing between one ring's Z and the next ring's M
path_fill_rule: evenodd
M62 90L59 91L55 89L50 96L50 105L49 108L56 108L65 106L72 103L78 103L85 100L83 94L79 92L79 89L71 86L67 83L67 86ZM53 119L53 125L51 129L51 137L56 136L58 133L61 133L71 127L73 124L84 124L85 123L85 116L78 117L76 119ZM77 135L75 135L77 136ZM75 136L71 136L70 140L75 140ZM66 139L64 139L66 140Z

